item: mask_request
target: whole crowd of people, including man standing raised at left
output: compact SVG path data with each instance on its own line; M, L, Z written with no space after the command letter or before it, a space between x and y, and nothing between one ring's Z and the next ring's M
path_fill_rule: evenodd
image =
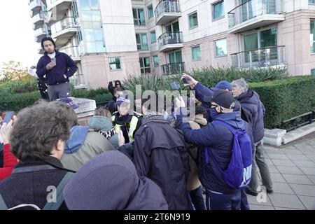
M0 116L0 209L248 210L258 169L272 193L265 106L244 78L206 87L184 73L195 97L171 110L164 95L133 100L116 80L86 126L70 98L76 66L52 39L42 47L44 100Z

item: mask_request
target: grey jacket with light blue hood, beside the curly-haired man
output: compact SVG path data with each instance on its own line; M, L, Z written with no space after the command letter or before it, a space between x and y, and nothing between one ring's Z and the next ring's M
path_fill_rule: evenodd
M94 156L112 150L115 149L102 134L89 132L88 126L74 126L61 162L67 169L77 171Z

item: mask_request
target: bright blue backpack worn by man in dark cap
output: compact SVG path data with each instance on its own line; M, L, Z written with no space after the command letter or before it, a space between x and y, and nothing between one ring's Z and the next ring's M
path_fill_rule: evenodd
M251 181L252 148L251 139L245 130L235 130L234 127L221 120L215 120L214 124L223 125L234 134L232 155L228 168L223 171L211 150L206 147L206 163L209 164L209 155L214 165L221 173L225 183L233 189L244 188Z

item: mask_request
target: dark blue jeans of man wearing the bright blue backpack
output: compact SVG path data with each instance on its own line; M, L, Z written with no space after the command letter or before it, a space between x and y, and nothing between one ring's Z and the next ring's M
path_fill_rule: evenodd
M240 210L241 191L232 195L216 194L206 190L206 205L208 210Z

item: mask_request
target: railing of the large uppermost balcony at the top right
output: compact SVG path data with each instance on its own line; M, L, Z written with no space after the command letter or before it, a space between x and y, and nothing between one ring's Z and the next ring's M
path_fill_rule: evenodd
M258 15L283 13L282 0L249 0L228 12L229 28Z

